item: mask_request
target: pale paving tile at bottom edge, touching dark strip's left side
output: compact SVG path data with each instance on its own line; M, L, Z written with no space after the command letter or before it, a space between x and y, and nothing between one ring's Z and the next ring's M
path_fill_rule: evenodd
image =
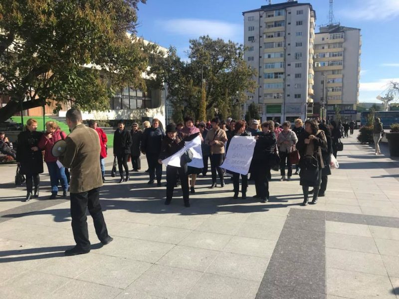
M258 288L259 282L205 273L186 298L253 299L255 298Z

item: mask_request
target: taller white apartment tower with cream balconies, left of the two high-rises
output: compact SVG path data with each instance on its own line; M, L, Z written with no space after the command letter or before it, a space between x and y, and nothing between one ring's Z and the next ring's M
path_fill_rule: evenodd
M244 58L259 71L248 94L262 120L282 122L313 111L316 13L310 3L289 1L244 11Z

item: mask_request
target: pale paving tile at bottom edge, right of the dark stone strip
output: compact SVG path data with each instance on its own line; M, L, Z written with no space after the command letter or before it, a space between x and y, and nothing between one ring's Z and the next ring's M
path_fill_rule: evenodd
M327 268L327 294L344 298L396 299L388 276Z

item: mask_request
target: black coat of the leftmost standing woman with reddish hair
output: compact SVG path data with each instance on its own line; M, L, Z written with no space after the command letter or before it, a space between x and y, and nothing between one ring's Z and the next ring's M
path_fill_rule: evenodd
M39 147L39 141L43 133L37 131L24 131L19 133L16 161L20 163L21 174L33 175L43 173L43 155L41 150L33 151L31 148Z

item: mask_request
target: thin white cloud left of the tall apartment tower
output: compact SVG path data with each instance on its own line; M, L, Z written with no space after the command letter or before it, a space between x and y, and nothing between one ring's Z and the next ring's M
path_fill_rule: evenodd
M242 24L217 20L182 18L162 21L160 22L160 28L173 34L188 37L197 38L201 35L209 35L212 38L231 39L235 42L242 42Z

